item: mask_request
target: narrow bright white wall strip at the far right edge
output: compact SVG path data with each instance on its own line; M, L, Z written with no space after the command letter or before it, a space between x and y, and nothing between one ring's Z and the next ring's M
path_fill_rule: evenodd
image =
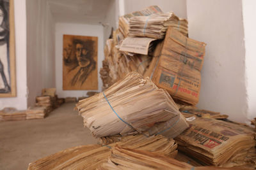
M244 45L248 119L256 117L256 1L243 0Z

